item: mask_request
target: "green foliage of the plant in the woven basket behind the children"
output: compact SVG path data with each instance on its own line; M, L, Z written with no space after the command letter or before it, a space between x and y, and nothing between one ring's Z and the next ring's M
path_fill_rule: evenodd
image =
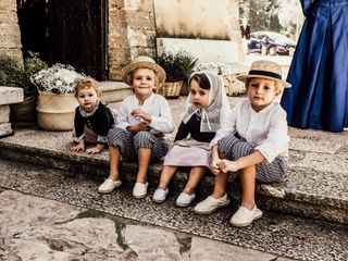
M185 51L175 54L164 51L160 55L156 55L153 60L164 69L166 82L187 79L198 61Z

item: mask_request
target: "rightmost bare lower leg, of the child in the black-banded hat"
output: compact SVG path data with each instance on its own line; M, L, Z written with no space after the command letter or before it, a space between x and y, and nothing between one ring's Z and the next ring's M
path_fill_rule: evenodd
M256 166L251 165L241 170L240 183L243 197L240 206L252 209L254 206Z

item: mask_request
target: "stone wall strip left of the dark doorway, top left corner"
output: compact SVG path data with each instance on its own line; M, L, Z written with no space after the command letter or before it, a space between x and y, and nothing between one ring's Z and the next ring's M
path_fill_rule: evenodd
M22 59L21 32L16 12L15 0L0 1L0 52Z

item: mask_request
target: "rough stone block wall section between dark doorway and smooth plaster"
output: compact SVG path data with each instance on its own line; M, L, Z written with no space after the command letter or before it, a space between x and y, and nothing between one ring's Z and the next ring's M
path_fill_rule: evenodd
M109 78L121 79L121 69L139 54L154 51L152 0L109 0Z

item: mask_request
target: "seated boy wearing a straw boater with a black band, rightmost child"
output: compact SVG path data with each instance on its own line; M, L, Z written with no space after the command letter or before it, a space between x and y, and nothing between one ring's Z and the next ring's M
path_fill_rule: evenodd
M231 224L248 226L262 216L254 200L256 181L278 182L288 169L286 112L275 99L290 85L282 80L281 65L270 61L253 62L249 73L237 78L246 84L248 99L235 105L229 125L211 141L214 191L195 212L208 214L229 203L226 184L232 172L240 178L243 195Z

